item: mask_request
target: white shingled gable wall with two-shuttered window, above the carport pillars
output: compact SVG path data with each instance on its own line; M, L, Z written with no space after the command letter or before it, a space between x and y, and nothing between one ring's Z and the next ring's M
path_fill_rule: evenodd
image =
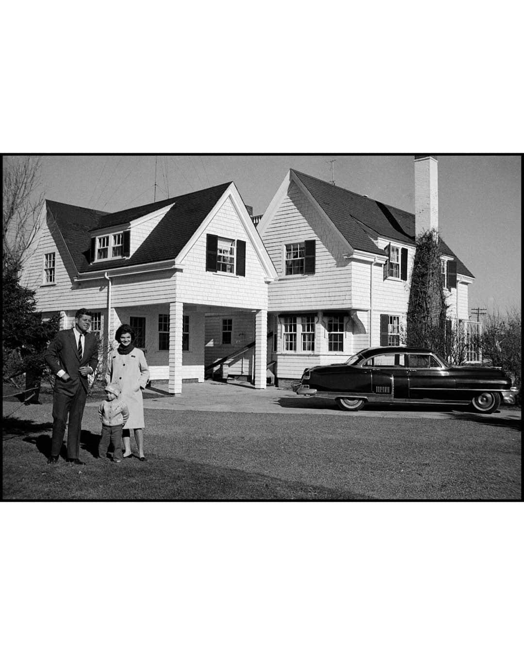
M246 276L206 271L207 234L246 242ZM265 271L229 198L200 234L181 265L183 272L178 274L176 292L177 298L184 303L267 309Z

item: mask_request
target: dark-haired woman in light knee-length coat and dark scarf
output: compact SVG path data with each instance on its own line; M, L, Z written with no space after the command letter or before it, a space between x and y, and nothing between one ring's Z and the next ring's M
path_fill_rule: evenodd
M123 324L117 329L115 339L119 342L117 350L109 356L107 365L107 383L118 383L122 388L121 399L129 409L129 418L124 426L124 453L122 458L132 457L131 453L131 430L134 431L136 445L138 446L138 458L145 462L143 453L143 399L142 389L149 380L149 369L145 361L145 355L136 348L134 344L135 332L128 324ZM127 432L129 430L129 432Z

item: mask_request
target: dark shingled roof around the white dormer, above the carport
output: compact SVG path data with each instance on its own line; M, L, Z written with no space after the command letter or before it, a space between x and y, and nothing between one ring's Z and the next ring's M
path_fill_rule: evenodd
M105 271L122 266L175 259L229 185L231 182L226 182L209 189L193 191L175 198L166 198L166 200L121 212L113 212L113 214L52 200L46 202L48 211L54 217L62 236L64 236L77 271ZM124 261L110 259L90 265L90 231L128 223L170 204L173 206L129 259Z

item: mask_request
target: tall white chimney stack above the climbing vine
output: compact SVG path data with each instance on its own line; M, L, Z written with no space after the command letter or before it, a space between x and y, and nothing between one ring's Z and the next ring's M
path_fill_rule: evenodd
M415 236L428 230L438 230L438 162L415 155Z

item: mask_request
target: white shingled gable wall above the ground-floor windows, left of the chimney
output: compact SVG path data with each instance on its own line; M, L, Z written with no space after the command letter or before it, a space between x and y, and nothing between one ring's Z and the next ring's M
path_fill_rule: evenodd
M286 276L285 245L310 239L316 241L314 275ZM343 257L343 243L294 183L276 209L263 242L279 276L269 286L271 311L352 306L351 269Z

